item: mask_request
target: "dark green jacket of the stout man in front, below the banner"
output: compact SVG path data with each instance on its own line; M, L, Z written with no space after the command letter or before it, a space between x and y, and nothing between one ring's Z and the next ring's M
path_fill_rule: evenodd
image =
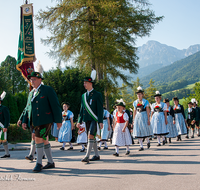
M28 127L48 123L62 123L62 110L58 97L50 86L41 85L33 99L34 90L29 93L27 105L22 113L22 123ZM33 100L32 100L33 99Z

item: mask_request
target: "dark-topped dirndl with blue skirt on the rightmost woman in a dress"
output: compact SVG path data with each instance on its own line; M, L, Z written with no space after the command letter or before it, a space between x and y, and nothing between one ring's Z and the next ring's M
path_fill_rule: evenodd
M182 108L180 105L178 105L178 107L174 106L175 126L178 131L178 135L185 135L185 134L187 134L187 127L186 127L185 119L183 117L181 109ZM184 110L183 110L183 112L184 112Z

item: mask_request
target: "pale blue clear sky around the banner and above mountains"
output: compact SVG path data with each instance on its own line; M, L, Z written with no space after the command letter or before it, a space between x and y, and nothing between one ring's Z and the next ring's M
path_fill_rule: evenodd
M47 6L54 6L52 0L30 0L33 3L34 14L38 10L45 10ZM136 47L142 46L149 40L156 40L162 44L178 49L187 49L191 45L200 44L200 0L149 0L150 9L156 16L164 19L155 25L150 36L138 38ZM0 0L0 62L7 55L17 58L18 38L20 32L20 6L24 0ZM35 53L45 71L55 68L56 62L48 57L49 47L44 46L40 39L49 35L46 30L39 30L34 22ZM62 63L62 67L64 67Z

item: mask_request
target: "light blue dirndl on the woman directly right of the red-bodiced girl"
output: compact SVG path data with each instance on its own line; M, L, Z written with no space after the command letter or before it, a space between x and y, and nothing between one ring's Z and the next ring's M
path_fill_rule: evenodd
M149 106L148 100L142 99L142 103L139 103L139 100L136 100L134 101L133 106L136 109L133 138L145 138L152 136L153 130L151 125L148 125L146 111L146 107Z

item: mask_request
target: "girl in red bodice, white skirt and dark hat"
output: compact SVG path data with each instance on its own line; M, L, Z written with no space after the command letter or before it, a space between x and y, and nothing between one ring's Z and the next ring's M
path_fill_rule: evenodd
M129 124L128 114L124 112L124 103L119 102L117 105L117 112L114 116L115 125L112 144L115 145L116 153L113 156L119 156L119 147L126 146L126 155L130 154L129 146L132 144L131 136L127 128Z

